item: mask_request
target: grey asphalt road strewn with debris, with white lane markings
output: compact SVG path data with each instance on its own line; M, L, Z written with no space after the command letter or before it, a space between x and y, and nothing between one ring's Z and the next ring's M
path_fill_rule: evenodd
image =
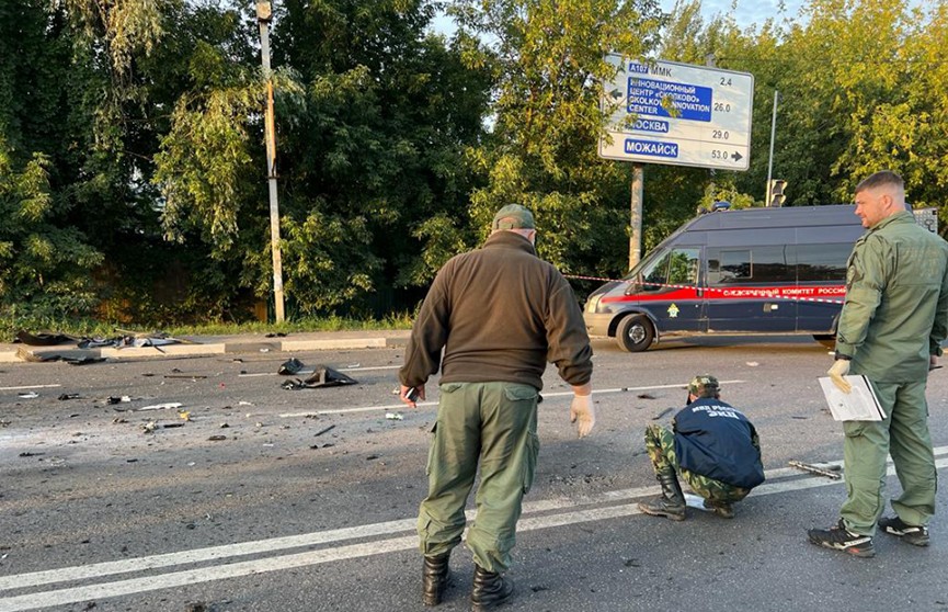
M928 548L879 534L877 556L859 559L807 542L845 498L841 481L788 467L842 460L816 383L824 348L797 338L594 348L590 438L575 438L569 388L547 371L517 590L503 610L948 611L944 488ZM418 410L400 405L401 355L0 364L0 612L422 610L414 517L436 386ZM289 356L358 384L284 389L276 371ZM643 515L636 503L658 488L642 431L667 422L703 372L754 421L768 480L732 521L696 509L681 523ZM935 371L939 475L946 392L946 369ZM468 610L467 551L452 569L438 610Z

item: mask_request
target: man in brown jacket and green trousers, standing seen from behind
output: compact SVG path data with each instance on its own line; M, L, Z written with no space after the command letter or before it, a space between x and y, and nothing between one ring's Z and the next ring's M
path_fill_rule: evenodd
M582 311L562 274L537 257L533 214L504 206L492 229L482 248L438 271L399 371L402 400L411 407L424 399L429 376L442 371L429 494L418 517L425 605L442 600L478 463L477 517L467 535L477 566L471 601L486 610L513 593L513 581L502 573L511 565L521 503L534 480L547 362L573 388L570 420L578 422L580 438L595 422L593 351Z

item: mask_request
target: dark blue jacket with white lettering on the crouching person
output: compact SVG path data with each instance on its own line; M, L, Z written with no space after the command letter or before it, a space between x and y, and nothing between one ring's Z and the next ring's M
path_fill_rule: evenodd
M764 481L757 431L734 407L699 398L675 415L673 424L679 466L745 489Z

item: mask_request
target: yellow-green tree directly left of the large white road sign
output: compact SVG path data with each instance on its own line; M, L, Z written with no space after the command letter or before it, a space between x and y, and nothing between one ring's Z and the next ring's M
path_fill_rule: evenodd
M495 86L491 135L468 158L486 184L471 195L482 238L493 212L521 203L537 214L538 251L564 272L625 270L628 165L597 157L607 110L608 53L640 57L655 43L661 13L651 1L457 1L461 36L488 48L469 60L490 66ZM606 111L606 112L604 112Z

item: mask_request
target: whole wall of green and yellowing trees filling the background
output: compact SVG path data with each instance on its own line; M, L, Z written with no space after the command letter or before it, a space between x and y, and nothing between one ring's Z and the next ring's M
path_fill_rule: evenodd
M762 205L775 92L789 204L891 168L948 224L948 0L810 0L750 27L698 0L274 5L293 315L411 308L511 202L564 272L625 272L631 167L596 155L607 53L755 77L750 169L647 167L646 249L715 200ZM4 320L239 320L267 298L259 39L250 0L0 2Z

